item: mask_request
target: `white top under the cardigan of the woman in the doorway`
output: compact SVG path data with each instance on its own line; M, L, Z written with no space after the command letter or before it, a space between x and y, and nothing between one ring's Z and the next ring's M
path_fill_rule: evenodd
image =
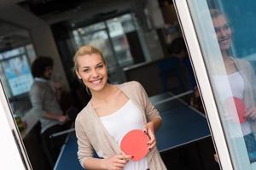
M126 133L133 129L143 129L143 115L129 99L118 111L111 115L100 117L108 133L120 145ZM146 170L148 161L146 157L140 161L128 161L124 170Z

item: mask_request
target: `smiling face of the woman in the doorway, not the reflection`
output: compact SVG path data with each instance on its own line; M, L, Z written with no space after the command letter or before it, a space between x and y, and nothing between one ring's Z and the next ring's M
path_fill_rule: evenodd
M107 65L99 54L85 54L77 59L78 70L76 71L79 79L82 79L85 86L90 91L101 91L108 80Z

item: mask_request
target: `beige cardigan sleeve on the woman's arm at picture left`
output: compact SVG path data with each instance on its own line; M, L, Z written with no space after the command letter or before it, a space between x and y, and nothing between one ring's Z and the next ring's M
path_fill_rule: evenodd
M79 162L81 166L84 167L84 161L86 160L86 158L93 156L93 149L84 131L83 122L80 116L78 116L76 119L75 130L76 130L76 136L77 136L78 145L79 145L79 150L78 150Z

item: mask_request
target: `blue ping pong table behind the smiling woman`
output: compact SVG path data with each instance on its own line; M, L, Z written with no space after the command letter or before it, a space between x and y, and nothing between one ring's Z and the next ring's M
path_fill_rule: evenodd
M156 132L157 147L160 152L171 150L211 135L206 117L187 105L183 100L173 97L170 93L158 94L150 97L150 100L160 111L163 121L160 129ZM79 165L77 150L78 145L75 133L69 133L54 169L83 169Z

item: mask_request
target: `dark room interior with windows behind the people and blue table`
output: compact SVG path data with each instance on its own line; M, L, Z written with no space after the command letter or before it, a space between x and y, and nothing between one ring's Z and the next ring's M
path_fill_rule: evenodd
M183 37L171 0L3 0L0 8L1 82L12 113L26 122L20 136L33 169L51 168L28 97L30 67L38 56L54 59L52 79L67 92L64 109L82 109L90 100L73 73L73 55L84 44L102 50L109 82L141 82L148 97L189 92L182 98L189 105L194 90L189 73L168 50L174 39ZM168 169L181 170L219 169L213 154L211 136L161 152Z

